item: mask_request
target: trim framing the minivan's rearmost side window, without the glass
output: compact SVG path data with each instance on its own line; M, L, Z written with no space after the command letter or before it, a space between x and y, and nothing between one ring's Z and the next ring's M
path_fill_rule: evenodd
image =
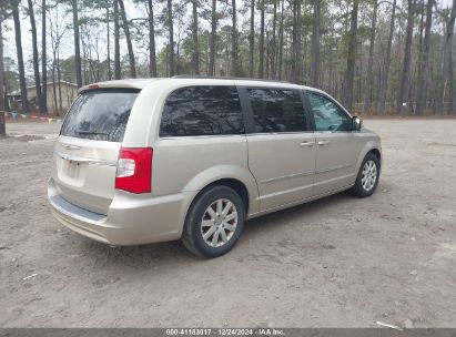
M163 112L164 112L164 108L166 105L168 99L174 92L176 92L178 90L182 90L184 88L191 88L191 86L232 86L232 88L236 89L237 96L239 96L239 100L240 100L240 105L241 105L242 120L244 122L244 132L243 133L232 133L232 134L165 135L165 136L160 135ZM247 129L247 126L246 126L246 115L245 115L244 106L243 106L243 103L242 103L241 93L240 93L239 88L237 88L236 84L231 84L231 83L230 84L225 84L225 83L220 83L220 84L219 83L214 83L214 84L189 83L189 84L184 84L182 86L175 88L166 94L166 98L164 99L163 105L162 105L161 111L160 111L160 119L159 119L159 122L158 122L158 137L160 140L180 140L180 139L209 139L209 137L245 136L246 129Z

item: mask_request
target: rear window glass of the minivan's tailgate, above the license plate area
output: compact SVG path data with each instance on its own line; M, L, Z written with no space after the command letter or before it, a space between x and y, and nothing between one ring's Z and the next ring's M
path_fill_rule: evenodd
M122 142L139 90L93 90L82 93L68 112L60 134Z

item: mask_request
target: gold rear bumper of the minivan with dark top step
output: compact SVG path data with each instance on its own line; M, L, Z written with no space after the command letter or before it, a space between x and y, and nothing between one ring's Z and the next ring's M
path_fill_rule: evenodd
M48 202L54 217L70 229L111 245L138 245L179 239L191 195L151 197L115 191L108 215L94 213L67 201L52 178Z

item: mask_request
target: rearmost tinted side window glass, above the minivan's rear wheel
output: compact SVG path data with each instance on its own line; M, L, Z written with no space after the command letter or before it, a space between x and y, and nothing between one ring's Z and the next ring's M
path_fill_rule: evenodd
M166 100L160 136L241 133L244 119L235 86L185 86Z

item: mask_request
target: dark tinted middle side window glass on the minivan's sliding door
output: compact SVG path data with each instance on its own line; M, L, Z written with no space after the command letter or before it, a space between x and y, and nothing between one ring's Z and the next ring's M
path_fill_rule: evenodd
M247 89L255 132L307 131L300 93L286 89Z

